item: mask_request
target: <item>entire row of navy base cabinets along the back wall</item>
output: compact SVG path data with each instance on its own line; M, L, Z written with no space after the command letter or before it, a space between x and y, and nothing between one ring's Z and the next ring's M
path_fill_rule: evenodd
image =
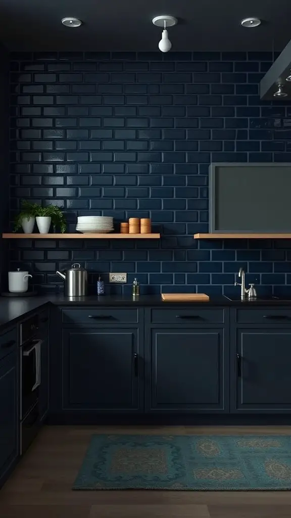
M67 422L96 413L291 413L287 306L53 311L50 411Z

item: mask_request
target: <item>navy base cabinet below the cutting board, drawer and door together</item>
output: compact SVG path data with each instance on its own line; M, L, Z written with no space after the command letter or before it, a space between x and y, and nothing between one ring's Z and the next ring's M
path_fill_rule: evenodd
M146 309L146 411L229 411L229 311Z

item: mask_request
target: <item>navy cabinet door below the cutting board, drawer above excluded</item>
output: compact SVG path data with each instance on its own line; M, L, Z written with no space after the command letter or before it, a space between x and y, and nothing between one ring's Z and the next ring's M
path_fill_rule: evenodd
M223 329L152 329L147 409L227 412Z

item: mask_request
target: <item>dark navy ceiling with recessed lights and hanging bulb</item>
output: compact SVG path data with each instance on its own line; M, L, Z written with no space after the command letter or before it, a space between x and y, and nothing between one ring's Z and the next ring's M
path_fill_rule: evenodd
M172 15L172 50L281 51L291 37L290 0L0 0L0 39L10 50L157 50L157 15ZM80 28L61 19L74 16ZM263 20L257 28L242 18Z

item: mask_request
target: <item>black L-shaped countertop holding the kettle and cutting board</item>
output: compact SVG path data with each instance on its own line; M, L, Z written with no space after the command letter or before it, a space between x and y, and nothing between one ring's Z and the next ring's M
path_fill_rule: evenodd
M270 300L229 300L223 295L210 296L209 301L205 302L165 302L161 295L140 295L117 296L117 295L92 295L88 297L65 297L64 295L40 295L36 297L21 298L5 298L0 297L0 326L8 326L16 323L21 318L26 318L34 311L44 309L45 306L120 306L120 307L184 307L193 308L199 306L201 308L208 307L239 307L251 308L258 306L290 306L290 300L270 299Z

